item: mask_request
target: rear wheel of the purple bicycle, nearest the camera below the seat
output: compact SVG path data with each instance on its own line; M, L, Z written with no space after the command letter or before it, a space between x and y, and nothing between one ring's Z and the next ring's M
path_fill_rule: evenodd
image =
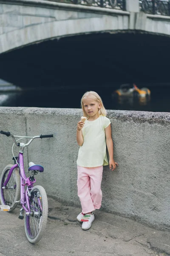
M31 215L26 215L25 212L25 232L28 241L35 244L40 241L45 231L48 218L48 199L42 186L34 186L30 192L29 203L32 212Z

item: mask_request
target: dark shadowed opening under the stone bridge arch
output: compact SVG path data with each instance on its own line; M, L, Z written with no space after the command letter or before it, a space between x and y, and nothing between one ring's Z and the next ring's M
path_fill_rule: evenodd
M0 77L21 87L169 82L170 37L99 32L30 44L0 55Z

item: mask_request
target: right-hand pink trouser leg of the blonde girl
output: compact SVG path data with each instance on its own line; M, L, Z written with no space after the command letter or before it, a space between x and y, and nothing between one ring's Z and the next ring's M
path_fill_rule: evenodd
M102 204L102 182L103 166L91 168L90 182L91 182L91 198L94 204L94 209L100 209Z

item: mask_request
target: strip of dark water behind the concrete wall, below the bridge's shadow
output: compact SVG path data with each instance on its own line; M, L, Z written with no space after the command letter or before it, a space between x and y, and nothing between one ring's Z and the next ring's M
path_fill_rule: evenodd
M148 87L148 86L147 86ZM131 99L117 102L111 96L118 87L83 87L0 92L0 106L40 108L80 108L80 100L87 90L101 96L106 109L170 112L170 86L151 86L150 102L133 102Z

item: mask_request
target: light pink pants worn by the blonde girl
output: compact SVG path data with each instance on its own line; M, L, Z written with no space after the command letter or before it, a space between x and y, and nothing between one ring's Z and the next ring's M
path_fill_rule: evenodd
M78 196L82 205L82 212L88 213L100 209L102 204L102 173L103 166L77 166Z

